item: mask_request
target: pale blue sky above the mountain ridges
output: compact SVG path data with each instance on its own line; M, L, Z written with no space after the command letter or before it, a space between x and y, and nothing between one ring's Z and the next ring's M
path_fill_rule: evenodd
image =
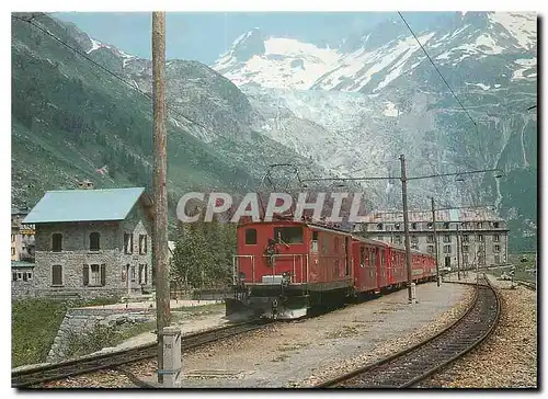
M435 13L411 13L410 23L420 25L432 14ZM151 58L150 13L62 12L54 16L75 23L96 41ZM168 12L165 56L212 65L238 36L253 27L266 35L321 43L340 41L395 16L396 12Z

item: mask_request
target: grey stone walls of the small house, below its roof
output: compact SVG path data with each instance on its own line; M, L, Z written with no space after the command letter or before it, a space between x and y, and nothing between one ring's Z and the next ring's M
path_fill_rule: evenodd
M62 235L62 251L52 251L54 233ZM90 251L90 233L100 233L100 250ZM124 253L124 233L133 233L133 253ZM139 235L147 236L147 252L139 253ZM35 294L37 296L58 296L75 294L80 297L119 296L128 292L139 294L141 287L151 289L151 239L150 224L138 204L128 217L118 221L102 223L58 223L36 225L36 266ZM105 285L92 286L90 267L89 285L83 285L83 266L105 264ZM61 265L62 284L53 286L53 266ZM147 277L141 275L132 278L130 273L139 273L139 265L144 265ZM146 265L146 267L145 267ZM129 273L128 273L129 272ZM132 281L134 280L134 281ZM146 281L147 284L144 284Z

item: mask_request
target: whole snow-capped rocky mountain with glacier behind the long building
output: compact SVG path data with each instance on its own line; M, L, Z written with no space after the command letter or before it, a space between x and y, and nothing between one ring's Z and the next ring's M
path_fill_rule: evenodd
M246 93L256 130L339 175L398 175L400 153L410 175L504 169L502 182L421 181L411 201L421 206L435 193L452 205L495 203L526 236L536 208L523 205L536 194L526 198L511 182L525 173L536 183L536 114L526 111L537 101L536 14L454 13L414 33L466 112L397 19L336 48L255 29L213 68ZM379 207L400 201L388 189L366 184Z

